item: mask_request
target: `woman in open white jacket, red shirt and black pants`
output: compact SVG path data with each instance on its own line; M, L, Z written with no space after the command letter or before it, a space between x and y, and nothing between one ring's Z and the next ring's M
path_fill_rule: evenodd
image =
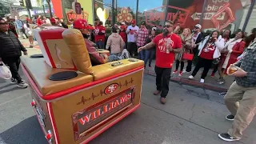
M218 30L214 30L209 36L207 36L198 46L198 63L195 66L190 79L198 73L198 70L203 67L203 72L201 76L201 83L205 82L206 75L212 66L214 58L219 58L221 56L220 51L224 48L224 39L219 38Z

